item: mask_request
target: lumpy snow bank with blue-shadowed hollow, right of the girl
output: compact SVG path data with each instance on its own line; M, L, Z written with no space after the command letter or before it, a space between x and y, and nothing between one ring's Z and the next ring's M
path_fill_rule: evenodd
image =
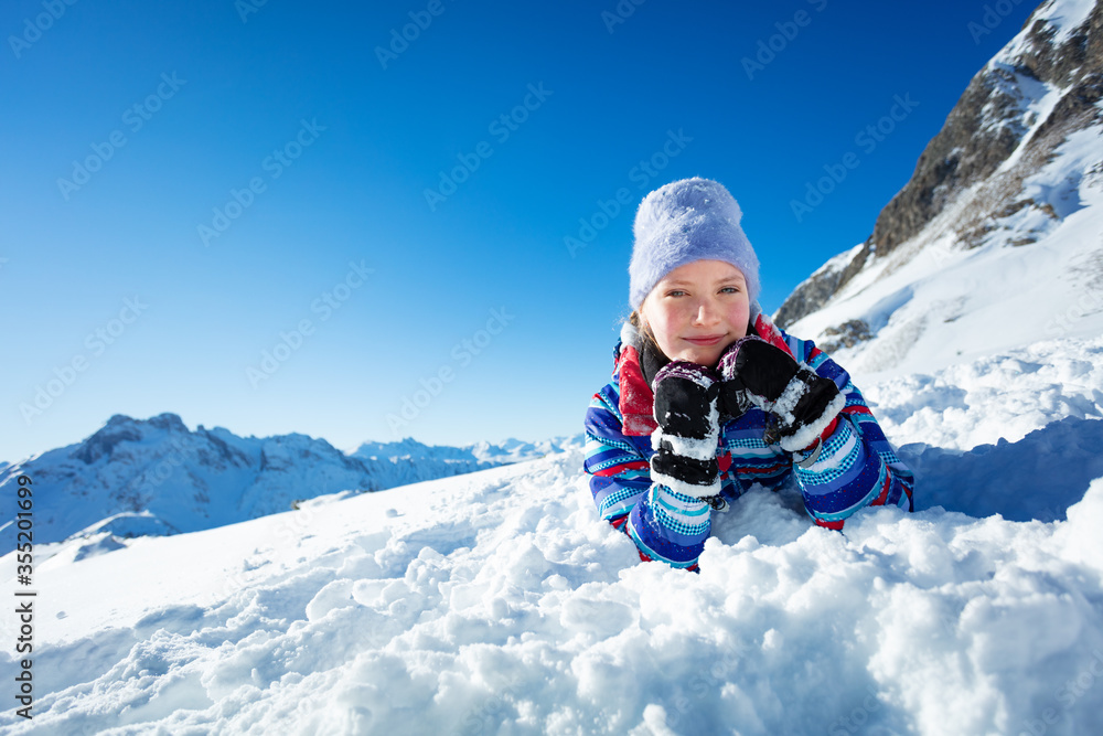
M924 484L973 516L1064 519L1103 478L1103 338L1041 342L874 384L866 397ZM910 442L910 444L909 444Z

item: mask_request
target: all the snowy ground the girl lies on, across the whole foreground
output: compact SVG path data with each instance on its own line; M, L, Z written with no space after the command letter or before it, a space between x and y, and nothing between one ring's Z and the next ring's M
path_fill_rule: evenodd
M922 466L917 513L865 510L838 534L796 489L753 489L717 515L700 575L639 562L577 447L58 548L35 573L35 717L0 728L1099 733L1103 341L907 382L866 388ZM1029 520L1039 499L1053 521Z

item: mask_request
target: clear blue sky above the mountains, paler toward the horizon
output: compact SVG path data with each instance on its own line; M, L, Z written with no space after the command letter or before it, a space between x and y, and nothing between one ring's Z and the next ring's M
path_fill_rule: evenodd
M117 413L342 449L577 433L647 191L724 182L772 312L1031 10L977 35L986 3L949 0L176 4L0 13L0 459ZM897 95L918 105L856 139Z

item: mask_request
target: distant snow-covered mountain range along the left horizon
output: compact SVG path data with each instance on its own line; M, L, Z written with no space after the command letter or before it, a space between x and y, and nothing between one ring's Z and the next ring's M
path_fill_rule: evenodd
M35 541L78 535L90 553L129 537L222 526L323 494L378 491L552 450L550 442L456 448L406 439L365 444L349 456L306 435L243 438L221 427L190 431L174 414L147 420L116 415L82 442L0 468L0 493L29 474L36 489ZM0 524L15 511L8 506ZM9 530L0 552L13 546Z

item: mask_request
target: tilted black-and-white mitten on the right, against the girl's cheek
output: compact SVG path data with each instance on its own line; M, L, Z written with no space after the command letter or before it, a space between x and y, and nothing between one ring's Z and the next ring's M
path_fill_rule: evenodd
M834 381L757 335L733 342L717 369L725 412L739 416L748 406L767 412L771 422L763 439L789 452L815 442L846 406Z

